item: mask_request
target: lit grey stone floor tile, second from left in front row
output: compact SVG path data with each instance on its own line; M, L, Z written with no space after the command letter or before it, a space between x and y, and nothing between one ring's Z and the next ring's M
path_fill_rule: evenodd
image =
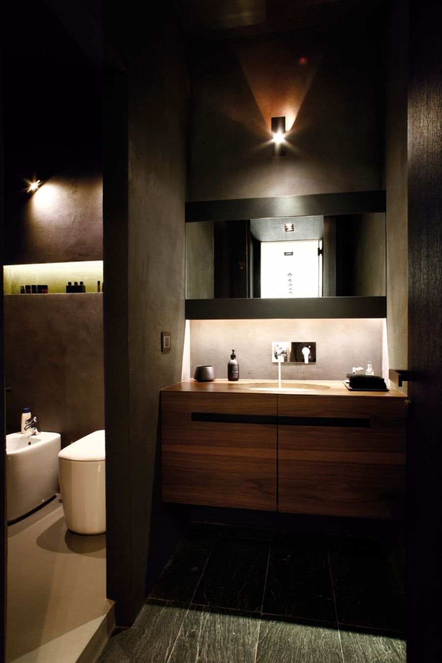
M259 625L250 615L192 607L169 663L254 663Z

